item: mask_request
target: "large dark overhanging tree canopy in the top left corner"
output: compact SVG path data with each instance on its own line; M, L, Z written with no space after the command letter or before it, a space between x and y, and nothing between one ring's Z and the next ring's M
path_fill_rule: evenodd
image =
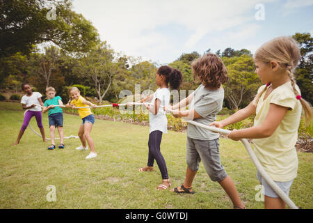
M56 17L49 20L50 8L56 7ZM88 52L99 42L95 27L70 8L70 0L1 0L0 58L16 52L30 54L33 45L55 43L68 52Z

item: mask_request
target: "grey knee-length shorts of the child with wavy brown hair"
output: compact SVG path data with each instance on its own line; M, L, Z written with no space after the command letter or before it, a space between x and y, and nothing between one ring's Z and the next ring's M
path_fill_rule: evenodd
M223 165L220 163L218 139L200 140L187 137L186 159L192 171L198 171L202 160L204 169L213 181L220 181L227 177Z

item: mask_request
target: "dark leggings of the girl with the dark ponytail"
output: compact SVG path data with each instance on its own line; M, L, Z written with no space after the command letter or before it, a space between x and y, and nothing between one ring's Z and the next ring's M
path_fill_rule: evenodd
M161 171L162 179L168 179L168 169L166 168L166 162L160 151L160 144L162 139L162 132L159 130L153 131L149 134L149 156L148 167L153 167L154 159L157 160L157 164Z

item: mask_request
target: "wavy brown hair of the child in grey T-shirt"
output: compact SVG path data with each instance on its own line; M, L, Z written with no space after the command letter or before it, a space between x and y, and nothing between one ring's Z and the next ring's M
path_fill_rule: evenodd
M204 82L205 86L219 88L227 82L227 69L216 54L205 54L191 63L195 82ZM200 83L199 83L200 84Z

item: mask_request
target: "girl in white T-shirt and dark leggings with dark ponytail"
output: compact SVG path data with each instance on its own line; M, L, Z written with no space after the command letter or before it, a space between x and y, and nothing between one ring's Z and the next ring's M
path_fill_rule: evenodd
M170 187L170 178L168 177L168 169L166 162L160 151L162 134L167 133L168 119L163 107L170 103L170 90L178 89L182 84L182 73L179 70L172 69L169 66L161 66L155 75L155 82L159 89L152 95L140 100L139 102L151 101L151 106L146 105L149 111L150 134L149 134L149 154L147 167L142 167L139 171L153 171L154 159L157 161L161 171L162 183L157 187L158 190L166 190Z

